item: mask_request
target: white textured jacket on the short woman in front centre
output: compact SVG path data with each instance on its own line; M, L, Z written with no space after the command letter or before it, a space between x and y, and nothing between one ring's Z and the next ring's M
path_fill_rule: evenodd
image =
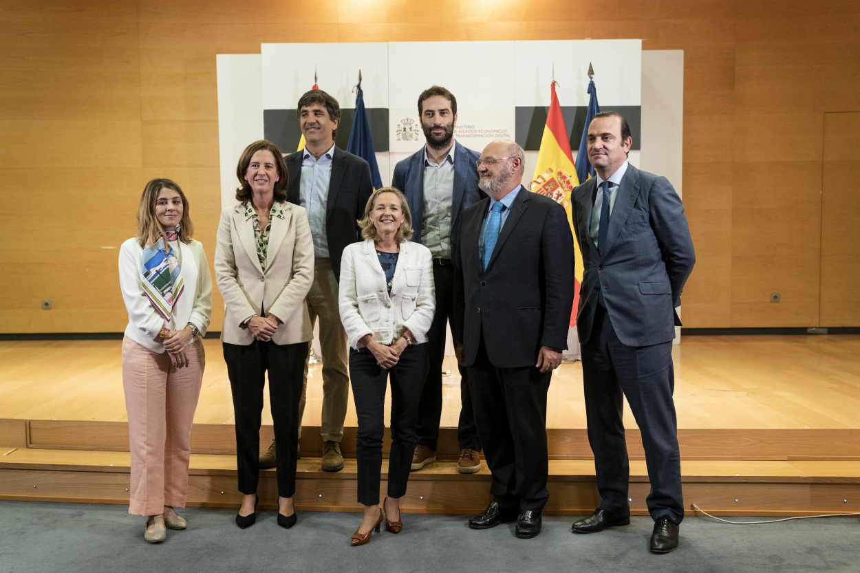
M390 344L404 328L419 344L427 342L436 297L433 258L424 245L400 243L390 294L373 241L347 245L341 258L338 293L341 323L349 346L358 348L359 339L366 334L376 342Z

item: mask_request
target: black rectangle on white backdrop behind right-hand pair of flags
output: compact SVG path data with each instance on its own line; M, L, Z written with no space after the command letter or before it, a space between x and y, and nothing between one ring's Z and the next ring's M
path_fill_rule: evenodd
M537 151L540 149L540 140L544 137L544 126L546 126L546 114L549 108L544 106L529 106L517 108L516 133L517 143L525 151ZM630 134L633 136L633 150L641 147L640 134L642 132L642 106L617 106L615 108L602 108L600 111L616 111L627 118L630 124ZM562 106L564 122L567 124L570 149L576 153L580 148L582 128L586 124L588 106Z

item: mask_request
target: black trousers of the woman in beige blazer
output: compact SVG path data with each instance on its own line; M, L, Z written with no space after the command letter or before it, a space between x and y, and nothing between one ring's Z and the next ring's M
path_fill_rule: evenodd
M302 396L304 357L308 342L279 346L255 340L249 346L224 342L224 361L233 393L236 416L236 459L239 491L257 490L260 467L260 418L264 373L268 373L278 464L278 495L296 492L298 456L298 400Z

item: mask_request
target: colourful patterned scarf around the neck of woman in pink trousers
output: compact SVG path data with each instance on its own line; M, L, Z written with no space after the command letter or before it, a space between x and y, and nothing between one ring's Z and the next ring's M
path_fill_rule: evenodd
M165 233L168 241L175 241L177 231ZM154 247L145 247L140 257L141 281L144 294L150 299L150 304L158 314L164 318L165 323L170 322L176 301L185 290L182 283L182 253L181 249L173 249L168 242L161 237Z

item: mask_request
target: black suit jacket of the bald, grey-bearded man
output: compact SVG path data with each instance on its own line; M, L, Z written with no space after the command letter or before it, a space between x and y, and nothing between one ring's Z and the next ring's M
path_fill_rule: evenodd
M524 187L511 205L487 270L478 240L489 199L463 213L455 272L454 343L475 363L483 336L495 367L533 367L541 346L568 348L574 237L564 207Z

